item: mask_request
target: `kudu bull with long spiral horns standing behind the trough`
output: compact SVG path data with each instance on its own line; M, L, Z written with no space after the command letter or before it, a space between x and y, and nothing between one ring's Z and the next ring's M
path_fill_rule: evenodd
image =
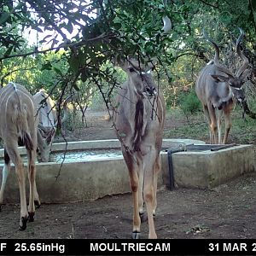
M246 78L248 70L248 59L241 52L241 39L244 32L240 28L240 36L236 40L236 53L242 60L242 65L236 72L232 73L230 69L220 65L219 49L211 38L204 32L204 37L212 43L215 49L215 56L207 66L201 70L199 78L195 84L195 92L200 99L204 113L207 116L210 126L210 143L227 143L230 132L230 113L237 100L243 102L244 92L241 88L243 80ZM221 140L221 118L224 114L225 131L224 139ZM218 128L218 140L217 140Z

